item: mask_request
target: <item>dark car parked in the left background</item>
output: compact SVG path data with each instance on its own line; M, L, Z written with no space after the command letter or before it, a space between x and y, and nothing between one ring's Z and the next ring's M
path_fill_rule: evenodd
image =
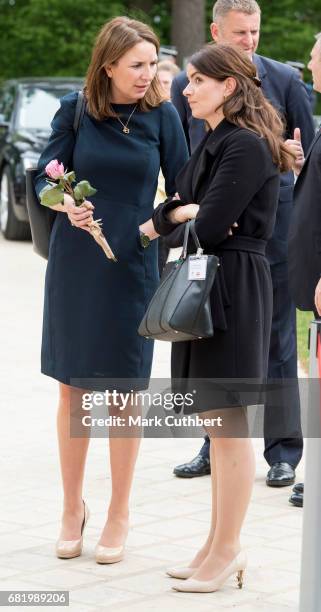
M70 77L16 79L0 88L0 228L8 240L30 237L26 168L37 164L59 99L82 87Z

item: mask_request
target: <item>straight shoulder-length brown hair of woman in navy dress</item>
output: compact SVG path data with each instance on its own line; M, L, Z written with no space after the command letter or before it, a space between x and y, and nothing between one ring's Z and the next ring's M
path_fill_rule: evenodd
M153 30L141 21L116 17L107 21L100 30L93 48L91 62L87 70L84 92L88 101L88 112L95 119L115 117L111 106L111 79L105 67L115 64L132 47L146 40L159 52L159 40ZM157 75L151 82L145 96L139 100L138 107L148 111L159 106L164 100Z

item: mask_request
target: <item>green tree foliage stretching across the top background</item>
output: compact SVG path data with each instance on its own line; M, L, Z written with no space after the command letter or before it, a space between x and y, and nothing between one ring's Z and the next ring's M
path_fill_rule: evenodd
M260 0L260 5L259 52L306 63L321 30L320 0ZM99 28L122 14L146 21L162 44L172 42L186 56L201 44L203 32L210 40L212 8L213 0L0 0L0 78L83 75Z

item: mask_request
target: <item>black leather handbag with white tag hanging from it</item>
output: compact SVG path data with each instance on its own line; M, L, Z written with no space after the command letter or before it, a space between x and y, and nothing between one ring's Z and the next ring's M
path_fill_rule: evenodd
M197 247L194 255L187 255L190 234ZM210 291L218 266L216 255L203 255L195 221L186 223L182 254L165 266L138 333L168 342L213 336Z

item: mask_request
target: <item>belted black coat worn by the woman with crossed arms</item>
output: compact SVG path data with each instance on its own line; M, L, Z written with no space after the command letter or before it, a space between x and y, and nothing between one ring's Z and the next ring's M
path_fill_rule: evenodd
M178 174L181 201L166 201L155 210L156 230L166 236L168 246L177 247L185 224L170 223L168 211L182 203L199 204L199 240L205 253L216 253L221 263L211 292L214 336L173 344L174 378L266 376L272 284L264 253L273 232L279 183L265 140L224 119ZM239 227L231 237L234 222Z

